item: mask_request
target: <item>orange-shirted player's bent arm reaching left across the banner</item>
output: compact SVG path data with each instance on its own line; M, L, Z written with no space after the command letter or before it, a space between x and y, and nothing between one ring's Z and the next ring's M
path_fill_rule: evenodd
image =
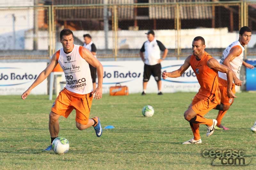
M171 78L177 78L180 77L186 70L188 70L188 67L190 66L189 61L190 61L191 55L189 55L185 62L180 66L178 70L172 71L172 72L163 72L162 78L166 79L168 77Z

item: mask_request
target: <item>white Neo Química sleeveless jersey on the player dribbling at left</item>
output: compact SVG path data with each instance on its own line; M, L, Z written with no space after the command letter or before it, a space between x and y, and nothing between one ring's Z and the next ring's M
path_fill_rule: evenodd
M61 48L57 59L65 73L66 89L78 94L87 94L93 90L92 77L89 64L80 55L79 48L82 49L82 46L74 44L73 50L68 54Z

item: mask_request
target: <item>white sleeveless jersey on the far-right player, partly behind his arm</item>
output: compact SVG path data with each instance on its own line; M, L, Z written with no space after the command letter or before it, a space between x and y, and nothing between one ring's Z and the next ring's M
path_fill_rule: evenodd
M230 62L230 65L231 65L231 69L235 72L236 74L236 77L239 78L240 77L240 70L241 70L241 66L242 66L242 63L243 63L243 57L244 57L244 47L240 44L239 41L235 41L235 42L232 42L222 53L222 58L220 60L220 63L222 64L224 59L228 56L230 50L234 47L241 47L242 48L242 53L238 56L236 56L234 58L234 60L232 60ZM227 74L226 73L222 73L219 71L219 77L224 79L224 80L227 80Z

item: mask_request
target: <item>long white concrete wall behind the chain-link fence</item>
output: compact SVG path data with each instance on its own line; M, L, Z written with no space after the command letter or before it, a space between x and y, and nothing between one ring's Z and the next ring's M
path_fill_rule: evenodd
M7 22L7 21L6 21ZM24 21L25 22L25 21ZM8 23L12 26L11 23ZM16 43L14 45L14 37L12 29L3 29L0 31L0 50L8 49L25 49L33 50L33 30L32 26L27 28L19 27L16 31ZM31 29L30 29L31 27ZM8 32L9 31L9 32ZM119 49L140 49L142 44L147 41L147 30L118 31L118 48ZM89 33L92 36L92 41L95 43L97 49L105 49L104 31L74 31L75 43L82 45L84 42L83 34ZM108 49L113 48L112 31L108 33ZM178 47L178 40L176 39L177 32L175 30L156 30L156 39L161 41L166 48L176 49ZM202 36L205 39L206 48L226 48L231 42L238 40L238 33L229 33L228 28L198 28L198 29L184 29L180 31L180 47L191 48L192 40L196 36ZM252 37L255 34L252 35ZM49 46L49 35L47 31L38 32L38 50L47 50ZM256 39L251 39L248 48L256 46ZM56 35L56 49L61 48L59 42L59 33Z

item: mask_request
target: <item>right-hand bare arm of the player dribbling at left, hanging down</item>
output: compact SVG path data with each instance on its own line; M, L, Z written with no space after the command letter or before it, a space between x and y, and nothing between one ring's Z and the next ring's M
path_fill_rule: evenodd
M98 86L96 89L92 91L92 94L94 94L94 99L101 99L102 98L102 83L103 83L103 66L99 62L97 58L95 58L92 53L86 49L82 48L82 57L87 61L89 64L91 64L93 67L96 67L97 69L97 77L98 77Z

